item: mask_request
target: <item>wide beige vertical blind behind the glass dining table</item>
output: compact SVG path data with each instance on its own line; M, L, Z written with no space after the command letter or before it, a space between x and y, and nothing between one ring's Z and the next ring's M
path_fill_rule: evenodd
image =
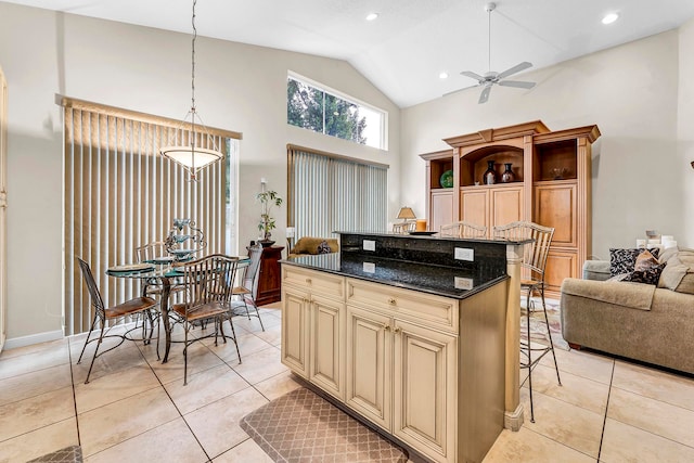
M134 262L138 246L164 241L174 218L190 218L205 232L206 253L226 250L227 163L215 163L191 181L158 154L171 140L188 143L191 132L180 123L65 100L63 106L65 334L72 335L88 331L93 319L76 257L90 263L108 307L139 296L140 284L110 278L106 269ZM211 134L228 155L231 140ZM197 145L211 147L206 140L201 137Z

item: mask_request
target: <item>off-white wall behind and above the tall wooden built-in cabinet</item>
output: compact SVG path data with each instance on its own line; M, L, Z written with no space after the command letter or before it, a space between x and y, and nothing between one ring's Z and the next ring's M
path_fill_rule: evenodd
M690 61L692 35L682 33ZM401 181L419 185L402 191L403 203L424 214L419 154L447 149L444 138L535 119L552 130L596 124L602 137L593 145L593 254L608 258L609 247L634 245L646 229L694 246L693 229L687 234L685 224L689 217L692 226L692 194L684 191L681 172L691 168L678 154L678 103L690 117L680 129L680 143L685 134L691 141L694 110L692 87L686 101L678 94L678 60L686 54L678 53L679 41L679 31L672 30L530 72L518 80L537 81L532 90L494 87L481 105L479 88L472 88L403 110ZM461 87L470 83L452 78ZM686 78L694 86L692 63Z

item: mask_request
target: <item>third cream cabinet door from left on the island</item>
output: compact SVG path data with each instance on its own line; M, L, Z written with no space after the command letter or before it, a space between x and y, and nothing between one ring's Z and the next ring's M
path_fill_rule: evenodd
M390 430L393 337L390 318L347 306L347 387L345 402Z

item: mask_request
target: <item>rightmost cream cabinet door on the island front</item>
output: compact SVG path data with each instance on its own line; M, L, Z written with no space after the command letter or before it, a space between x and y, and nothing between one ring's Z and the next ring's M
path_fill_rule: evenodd
M455 461L458 338L396 320L393 434L437 462Z

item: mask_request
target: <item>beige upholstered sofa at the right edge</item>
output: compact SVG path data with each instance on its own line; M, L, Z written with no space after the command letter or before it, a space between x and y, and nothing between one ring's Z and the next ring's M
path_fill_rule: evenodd
M694 374L694 250L666 249L659 262L654 285L619 281L611 261L586 261L582 280L562 283L564 338L573 347Z

